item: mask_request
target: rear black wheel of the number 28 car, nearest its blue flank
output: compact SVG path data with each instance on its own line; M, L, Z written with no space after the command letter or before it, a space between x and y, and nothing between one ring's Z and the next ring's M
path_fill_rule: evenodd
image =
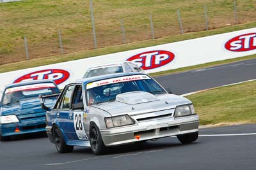
M56 125L54 125L52 129L52 137L55 141L56 149L59 153L67 153L72 152L74 150L74 146L68 146L62 136L62 133L60 131L60 128Z

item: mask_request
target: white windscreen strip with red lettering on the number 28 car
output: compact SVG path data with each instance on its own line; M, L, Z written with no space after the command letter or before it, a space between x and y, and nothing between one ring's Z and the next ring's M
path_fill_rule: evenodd
M100 80L100 81L88 83L86 85L86 89L92 89L93 87L99 87L102 85L109 85L109 84L113 84L113 83L121 83L121 82L125 82L125 81L136 81L136 80L145 80L145 79L150 79L150 77L148 77L146 75L132 75L132 76L109 78L106 80Z

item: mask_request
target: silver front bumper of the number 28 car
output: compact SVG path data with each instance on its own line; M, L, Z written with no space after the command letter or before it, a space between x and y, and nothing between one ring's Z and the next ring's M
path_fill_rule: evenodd
M198 115L190 115L188 117L172 117L140 122L136 125L117 127L115 129L100 129L100 133L104 144L113 146L197 132L198 125Z

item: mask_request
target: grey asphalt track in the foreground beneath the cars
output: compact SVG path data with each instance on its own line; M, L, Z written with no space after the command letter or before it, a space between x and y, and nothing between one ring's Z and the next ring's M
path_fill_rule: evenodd
M93 155L90 148L57 153L47 138L17 139L0 144L1 169L255 169L256 125L200 129L195 143L177 138L110 148ZM221 136L212 136L221 134ZM227 136L236 134L236 136ZM30 136L31 138L31 136Z

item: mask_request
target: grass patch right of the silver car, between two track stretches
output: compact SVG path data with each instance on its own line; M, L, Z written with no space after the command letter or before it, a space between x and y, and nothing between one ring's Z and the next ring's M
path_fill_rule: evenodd
M256 123L256 81L220 87L187 98L194 103L200 125Z

